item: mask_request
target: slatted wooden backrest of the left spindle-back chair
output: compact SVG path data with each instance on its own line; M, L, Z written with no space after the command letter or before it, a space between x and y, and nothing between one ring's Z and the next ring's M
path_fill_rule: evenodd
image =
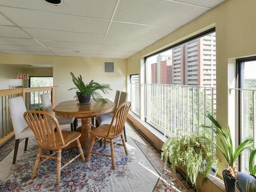
M24 118L35 134L39 146L56 147L57 142L58 144L65 145L59 123L51 113L27 111L24 113ZM55 126L57 135L54 132Z

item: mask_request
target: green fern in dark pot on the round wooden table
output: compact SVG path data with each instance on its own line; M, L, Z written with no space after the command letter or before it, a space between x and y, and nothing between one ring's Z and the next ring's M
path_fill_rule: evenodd
M87 104L90 102L91 96L95 101L102 101L106 102L107 99L102 98L102 96L97 92L97 90L102 91L104 94L109 94L108 91L112 91L110 88L110 84L106 83L98 83L94 80L91 80L88 84L84 84L82 81L82 76L79 75L78 77L75 77L75 75L70 72L72 76L72 80L75 84L75 88L71 88L69 90L78 89L79 92L76 92L76 96L78 97L79 103ZM74 97L76 97L74 96Z

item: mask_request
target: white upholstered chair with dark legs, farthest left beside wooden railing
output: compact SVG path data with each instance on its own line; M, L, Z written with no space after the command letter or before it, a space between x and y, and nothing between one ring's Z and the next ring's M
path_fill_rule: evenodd
M9 105L13 130L15 134L15 147L14 147L14 155L12 160L12 164L15 164L17 152L18 152L19 140L26 138L24 151L27 151L28 139L30 137L35 137L35 135L23 117L23 114L27 111L23 97L14 97L14 98L8 99L8 105Z

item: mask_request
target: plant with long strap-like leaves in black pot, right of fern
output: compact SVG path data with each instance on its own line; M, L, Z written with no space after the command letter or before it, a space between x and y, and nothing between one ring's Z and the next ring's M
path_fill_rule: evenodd
M206 128L210 128L212 131L215 132L217 138L220 140L221 145L216 144L214 141L210 140L207 137L203 137L206 140L210 141L210 143L214 144L218 150L222 153L227 161L228 168L223 169L222 175L225 184L225 188L227 192L234 192L235 191L235 184L237 178L237 165L236 161L238 156L245 150L248 150L253 146L252 144L252 137L245 139L236 150L233 148L232 137L230 134L229 127L227 128L227 133L225 133L224 129L221 125L215 120L214 117L211 115L207 115L212 123L215 124L216 130L213 129L211 126L204 126Z

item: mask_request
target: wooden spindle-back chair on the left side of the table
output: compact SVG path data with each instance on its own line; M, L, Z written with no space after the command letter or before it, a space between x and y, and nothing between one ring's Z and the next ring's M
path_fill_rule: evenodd
M38 142L38 153L35 160L35 165L33 168L33 173L31 178L33 179L36 175L37 167L40 163L48 159L57 159L57 179L56 184L60 183L60 170L74 161L76 158L81 156L84 161L84 156L82 148L79 142L79 137L81 136L78 132L61 131L57 119L50 113L45 111L27 111L24 113L24 118L31 130L35 134ZM56 127L56 132L54 129ZM61 150L62 148L68 146L72 142L75 142L79 151L79 155L72 158L68 163L61 166ZM52 155L42 155L42 150L56 151ZM57 156L54 156L57 153ZM45 158L45 160L39 163L40 157Z

